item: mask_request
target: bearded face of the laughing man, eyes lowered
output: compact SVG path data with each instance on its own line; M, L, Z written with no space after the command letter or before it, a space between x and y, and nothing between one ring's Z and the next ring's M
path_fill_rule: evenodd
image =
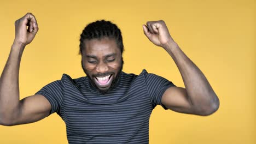
M82 67L85 74L101 92L107 92L117 81L123 68L122 56L112 38L84 41Z

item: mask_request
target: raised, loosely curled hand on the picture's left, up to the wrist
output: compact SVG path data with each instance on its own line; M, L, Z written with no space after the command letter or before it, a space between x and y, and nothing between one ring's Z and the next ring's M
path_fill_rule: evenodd
M28 26L28 28L27 28ZM38 32L36 17L27 13L19 20L15 21L15 39L14 44L24 45L30 44Z

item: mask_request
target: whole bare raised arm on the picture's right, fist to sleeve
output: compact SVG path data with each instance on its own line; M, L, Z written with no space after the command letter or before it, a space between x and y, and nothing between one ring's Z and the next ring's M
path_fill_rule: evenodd
M143 25L144 34L153 44L164 48L176 63L185 85L166 89L161 103L168 109L207 116L217 111L219 99L202 71L185 55L172 39L165 22L149 21Z

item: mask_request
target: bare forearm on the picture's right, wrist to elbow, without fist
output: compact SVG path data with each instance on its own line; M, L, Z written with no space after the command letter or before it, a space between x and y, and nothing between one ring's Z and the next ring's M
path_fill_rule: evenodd
M202 71L173 41L167 43L164 49L170 54L182 75L191 105L198 111L217 110L219 99Z

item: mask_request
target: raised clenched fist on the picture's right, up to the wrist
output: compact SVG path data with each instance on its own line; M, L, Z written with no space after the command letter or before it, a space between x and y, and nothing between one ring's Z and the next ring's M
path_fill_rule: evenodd
M143 31L147 38L157 46L165 47L168 42L174 42L162 20L148 21L147 26L143 25Z

